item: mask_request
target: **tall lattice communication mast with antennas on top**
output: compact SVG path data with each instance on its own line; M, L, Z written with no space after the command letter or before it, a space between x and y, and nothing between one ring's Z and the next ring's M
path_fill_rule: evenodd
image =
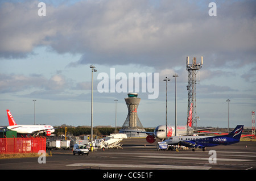
M193 134L193 130L197 127L196 116L196 74L203 66L203 56L201 56L201 64L196 63L196 57L193 57L192 64L187 57L187 71L188 71L188 117L187 117L187 135Z

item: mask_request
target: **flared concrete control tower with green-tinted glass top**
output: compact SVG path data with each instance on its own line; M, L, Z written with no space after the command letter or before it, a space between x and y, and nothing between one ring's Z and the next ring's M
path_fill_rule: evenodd
M128 93L128 98L125 98L125 102L128 108L128 115L122 125L122 129L127 131L120 131L119 133L125 133L127 137L146 137L147 134L145 133L129 132L145 132L137 113L139 102L141 102L141 98L138 98L138 93Z

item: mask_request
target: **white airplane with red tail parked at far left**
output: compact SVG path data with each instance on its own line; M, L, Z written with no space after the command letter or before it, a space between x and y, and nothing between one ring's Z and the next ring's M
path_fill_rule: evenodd
M50 136L55 129L51 125L20 125L16 124L13 116L9 110L6 110L9 121L9 127L11 131L16 131L21 134L39 134L43 133L44 136Z

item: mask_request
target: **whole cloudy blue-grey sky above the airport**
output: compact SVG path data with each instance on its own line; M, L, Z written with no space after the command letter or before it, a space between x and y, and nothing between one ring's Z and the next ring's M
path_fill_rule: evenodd
M200 62L203 56L203 67L196 75L197 125L228 127L229 99L230 128L251 127L251 111L256 110L255 12L256 1L3 0L0 125L8 124L6 110L17 124L34 124L34 106L36 124L90 125L90 65L97 69L93 72L93 126L114 127L115 99L117 125L122 126L129 89L141 98L138 116L145 128L165 124L165 77L171 79L167 120L174 125L175 73L179 75L177 124L185 125L186 57ZM123 81L129 73L146 76L141 89ZM154 75L152 81L149 75ZM104 82L109 91L101 91ZM121 82L127 87L117 89ZM150 99L153 88L158 94Z

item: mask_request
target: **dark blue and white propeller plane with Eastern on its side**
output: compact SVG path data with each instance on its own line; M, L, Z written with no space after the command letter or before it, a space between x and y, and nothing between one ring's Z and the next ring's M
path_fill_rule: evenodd
M195 151L196 148L205 151L206 147L236 144L240 141L242 131L243 125L237 125L231 133L223 136L172 136L163 142L168 145L189 147L192 148L193 151Z

